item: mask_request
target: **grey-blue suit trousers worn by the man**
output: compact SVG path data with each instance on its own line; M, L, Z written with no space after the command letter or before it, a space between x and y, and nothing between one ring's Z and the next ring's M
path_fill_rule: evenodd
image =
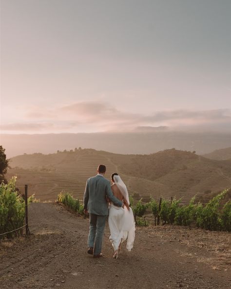
M90 214L90 230L88 235L88 247L94 248L94 255L101 253L104 227L107 216ZM95 247L94 247L95 243Z

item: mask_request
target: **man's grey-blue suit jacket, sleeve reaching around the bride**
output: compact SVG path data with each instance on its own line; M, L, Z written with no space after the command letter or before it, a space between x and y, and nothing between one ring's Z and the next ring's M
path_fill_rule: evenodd
M123 203L113 195L110 182L102 175L96 175L87 180L83 197L83 206L84 209L88 210L89 214L100 216L108 215L107 197L116 206L123 205Z

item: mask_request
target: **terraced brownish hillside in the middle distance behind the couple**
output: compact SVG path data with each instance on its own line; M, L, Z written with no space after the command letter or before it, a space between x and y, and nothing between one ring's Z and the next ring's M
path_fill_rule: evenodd
M86 180L96 174L99 164L107 166L107 179L118 172L129 193L137 196L176 196L188 202L196 193L203 196L231 187L231 161L209 160L176 149L150 155L122 155L94 149L24 154L11 159L7 178L17 175L19 189L28 184L29 193L35 193L41 200L55 200L61 190L82 199Z

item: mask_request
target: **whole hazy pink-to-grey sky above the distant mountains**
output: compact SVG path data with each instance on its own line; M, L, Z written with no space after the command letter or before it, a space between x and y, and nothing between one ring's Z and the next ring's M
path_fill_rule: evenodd
M0 6L1 133L230 130L230 0Z

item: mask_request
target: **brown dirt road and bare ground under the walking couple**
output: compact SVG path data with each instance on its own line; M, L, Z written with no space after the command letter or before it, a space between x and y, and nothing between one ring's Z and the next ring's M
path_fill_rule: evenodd
M28 239L0 243L1 289L230 289L231 234L177 226L137 227L135 246L112 258L86 253L88 220L52 203L29 207Z

